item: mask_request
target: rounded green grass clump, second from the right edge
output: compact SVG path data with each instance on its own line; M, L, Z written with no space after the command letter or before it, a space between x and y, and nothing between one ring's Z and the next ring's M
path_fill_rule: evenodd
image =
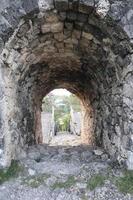
M103 186L107 177L102 174L96 174L91 177L87 182L87 188L90 190L94 190L96 187Z

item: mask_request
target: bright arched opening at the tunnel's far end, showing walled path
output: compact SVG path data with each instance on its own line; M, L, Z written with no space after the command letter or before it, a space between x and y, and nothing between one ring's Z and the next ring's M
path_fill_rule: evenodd
M81 103L67 90L56 89L43 98L41 118L43 143L62 146L82 143Z

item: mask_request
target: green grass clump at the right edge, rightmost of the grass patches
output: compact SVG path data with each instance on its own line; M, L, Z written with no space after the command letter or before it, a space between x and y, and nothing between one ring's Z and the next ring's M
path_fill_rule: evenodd
M126 170L124 176L118 178L115 184L120 192L133 194L133 170Z

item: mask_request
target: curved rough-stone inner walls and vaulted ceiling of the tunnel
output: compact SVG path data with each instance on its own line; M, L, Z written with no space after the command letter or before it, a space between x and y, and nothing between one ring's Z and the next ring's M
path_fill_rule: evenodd
M41 142L42 99L57 88L81 99L83 118L89 119L83 126L91 133L86 141L124 160L131 140L123 112L124 70L132 52L128 37L93 7L61 10L57 5L56 11L22 19L1 53L8 76L2 127L6 160Z

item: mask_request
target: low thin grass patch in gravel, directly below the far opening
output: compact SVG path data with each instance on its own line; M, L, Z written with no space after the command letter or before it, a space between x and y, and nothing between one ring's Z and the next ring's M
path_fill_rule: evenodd
M56 182L53 186L52 189L56 189L56 188L70 188L71 186L76 184L76 180L74 178L74 176L69 176L67 181L65 182Z

